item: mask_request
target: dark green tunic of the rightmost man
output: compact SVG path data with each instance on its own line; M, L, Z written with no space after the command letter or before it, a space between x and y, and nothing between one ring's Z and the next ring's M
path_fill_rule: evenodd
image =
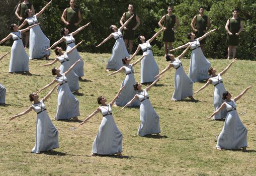
M230 46L237 46L238 45L238 36L235 33L238 33L240 30L240 23L241 19L229 19L228 29L233 35L227 34L227 44Z

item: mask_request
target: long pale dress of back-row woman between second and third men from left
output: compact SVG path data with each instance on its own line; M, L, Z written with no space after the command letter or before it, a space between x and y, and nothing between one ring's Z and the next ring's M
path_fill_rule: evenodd
M119 70L124 65L122 59L130 56L125 47L123 35L120 29L118 29L117 32L113 32L112 35L116 40L116 43L113 46L112 54L106 68L111 70Z

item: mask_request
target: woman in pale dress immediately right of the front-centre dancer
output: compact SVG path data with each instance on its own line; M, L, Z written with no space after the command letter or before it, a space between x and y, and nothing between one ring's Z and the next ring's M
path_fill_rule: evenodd
M135 83L133 85L134 90L137 91L137 94L134 96L134 98L128 102L120 111L122 111L124 108L128 107L133 101L139 100L140 101L140 126L138 129L138 135L139 136L145 136L147 134L156 134L157 136L160 136L160 122L159 122L159 116L156 114L154 108L152 107L148 91L151 89L151 87L161 78L158 77L154 82L152 82L149 86L147 86L144 90L141 89L141 83Z

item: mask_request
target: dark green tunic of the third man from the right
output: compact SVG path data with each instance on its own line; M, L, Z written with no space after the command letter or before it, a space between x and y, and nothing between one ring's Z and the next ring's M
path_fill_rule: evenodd
M163 37L162 37L163 42L174 42L175 41L174 31L172 30L175 23L176 23L175 15L172 15L172 16L165 15L164 16L164 27L166 28L166 30L163 31Z

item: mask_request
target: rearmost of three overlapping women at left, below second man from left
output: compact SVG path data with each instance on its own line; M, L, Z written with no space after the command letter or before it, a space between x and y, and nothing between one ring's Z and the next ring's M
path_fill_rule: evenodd
M57 44L61 43L61 42L66 42L66 53L71 50L74 46L75 46L75 39L74 36L79 33L81 30L83 30L84 28L86 28L91 22L89 22L88 24L78 28L76 31L71 32L70 34L68 29L66 28L62 28L61 29L61 35L63 35L63 37L61 39L59 39L57 42L53 43L52 46L46 50L50 50L51 48L53 48L54 46L56 46ZM76 62L78 59L81 58L81 56L79 55L77 49L75 48L72 52L69 52L68 54L68 58L69 58L69 62L72 65L74 62ZM83 60L80 61L77 65L75 65L75 67L73 68L73 71L75 72L75 74L77 74L79 76L79 79L81 80L83 74L83 65L84 62Z

